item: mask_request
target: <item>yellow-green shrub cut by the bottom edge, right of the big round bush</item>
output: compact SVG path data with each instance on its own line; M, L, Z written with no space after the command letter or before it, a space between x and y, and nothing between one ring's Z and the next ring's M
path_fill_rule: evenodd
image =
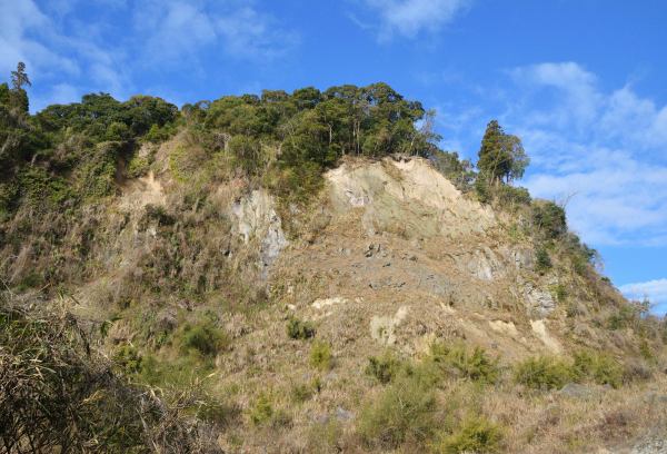
M442 454L495 453L500 448L502 431L482 416L469 417L460 428L445 436L434 450Z

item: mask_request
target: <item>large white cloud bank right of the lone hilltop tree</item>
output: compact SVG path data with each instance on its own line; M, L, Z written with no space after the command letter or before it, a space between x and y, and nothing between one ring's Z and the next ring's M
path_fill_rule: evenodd
M505 120L532 158L531 193L569 199L586 241L667 244L667 107L629 86L605 91L574 62L510 75L518 91Z

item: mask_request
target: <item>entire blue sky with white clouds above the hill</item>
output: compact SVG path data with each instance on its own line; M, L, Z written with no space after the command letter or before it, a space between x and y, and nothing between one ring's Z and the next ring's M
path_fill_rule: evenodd
M26 61L32 110L386 81L472 158L498 118L532 158L522 184L665 312L665 23L661 0L0 0L0 73Z

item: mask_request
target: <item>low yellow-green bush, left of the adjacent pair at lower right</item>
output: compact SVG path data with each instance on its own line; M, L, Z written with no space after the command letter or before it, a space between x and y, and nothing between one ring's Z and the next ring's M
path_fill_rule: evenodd
M514 378L515 382L535 389L554 389L573 381L575 375L563 359L537 356L517 364Z

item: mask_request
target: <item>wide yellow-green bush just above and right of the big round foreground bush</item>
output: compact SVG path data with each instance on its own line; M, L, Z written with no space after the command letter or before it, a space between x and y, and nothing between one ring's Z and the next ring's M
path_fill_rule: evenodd
M454 347L441 343L431 345L430 359L446 372L476 382L495 383L498 379L498 361L490 358L481 347L469 352L464 345Z

